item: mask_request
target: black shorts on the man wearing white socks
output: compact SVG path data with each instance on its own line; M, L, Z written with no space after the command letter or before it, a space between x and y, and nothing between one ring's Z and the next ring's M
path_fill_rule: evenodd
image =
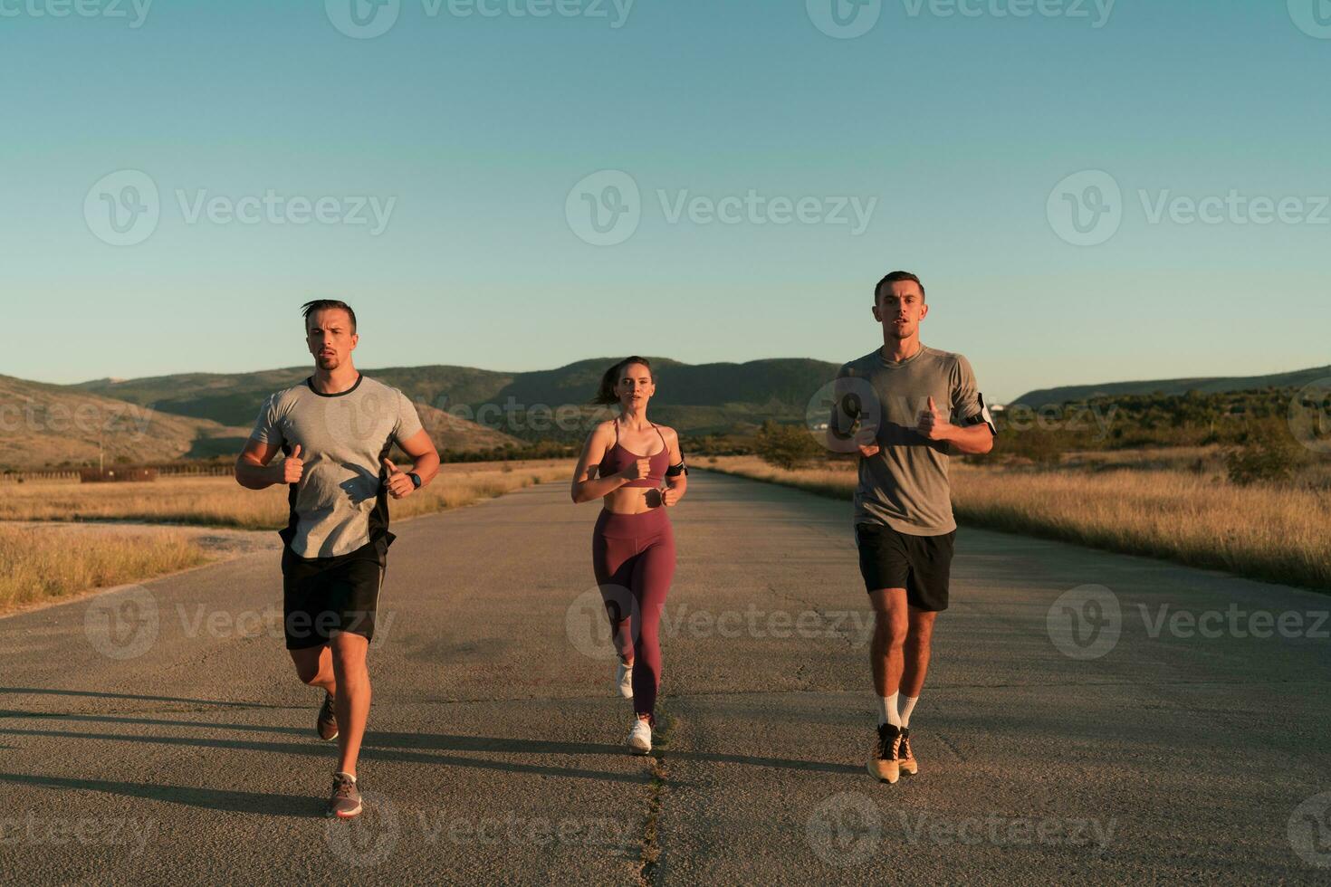
M906 602L921 610L948 609L948 577L957 531L909 536L882 524L856 524L864 589L906 589Z

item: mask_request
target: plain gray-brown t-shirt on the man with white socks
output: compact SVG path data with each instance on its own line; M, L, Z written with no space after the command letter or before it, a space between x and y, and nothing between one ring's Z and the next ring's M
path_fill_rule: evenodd
M974 372L960 354L921 347L893 363L873 351L837 374L828 422L832 440L855 452L858 431L880 447L860 457L855 523L886 524L908 536L941 536L957 528L948 484L952 448L916 431L930 395L954 424L988 422Z

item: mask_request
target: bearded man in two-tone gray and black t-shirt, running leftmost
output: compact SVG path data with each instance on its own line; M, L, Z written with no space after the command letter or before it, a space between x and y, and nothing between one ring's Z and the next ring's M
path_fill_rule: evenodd
M394 540L389 496L434 480L439 453L401 391L357 372L351 309L319 301L302 311L314 375L265 402L236 480L290 487L281 532L286 649L301 681L323 690L315 730L339 750L327 815L349 819L361 813L355 762L370 715L366 652ZM415 461L409 471L389 459L394 443ZM273 463L278 451L285 459Z

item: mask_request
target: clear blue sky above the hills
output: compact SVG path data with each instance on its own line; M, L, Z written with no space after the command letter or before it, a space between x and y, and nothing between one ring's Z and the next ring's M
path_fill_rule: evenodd
M929 289L925 343L966 354L992 400L1331 363L1331 223L1306 221L1331 194L1331 39L1283 0L1119 0L1102 27L1094 0L1025 19L997 15L1022 0L965 0L977 16L881 0L853 39L815 25L820 0L638 0L619 28L612 0L543 19L507 12L540 0L486 1L502 15L401 0L391 29L351 39L338 0L157 0L137 28L130 0L128 19L4 0L0 372L299 364L298 306L318 297L357 307L362 367L840 362L878 343L869 293L896 267ZM640 188L642 218L594 246L566 203L606 169ZM85 214L117 170L160 189L133 246ZM1082 170L1122 190L1094 246L1047 209ZM375 235L189 223L177 197L269 189L334 197L338 217L354 197L395 203ZM658 197L751 189L815 197L817 218L836 198L877 205L856 235L672 222ZM1151 223L1143 190L1299 198L1304 221Z

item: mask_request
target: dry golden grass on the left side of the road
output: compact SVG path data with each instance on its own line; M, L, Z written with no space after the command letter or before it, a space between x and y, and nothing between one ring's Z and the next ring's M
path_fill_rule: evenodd
M439 477L390 501L394 520L469 505L531 484L567 481L566 460L447 464ZM8 483L0 496L0 614L89 589L146 581L212 560L192 535L108 527L65 532L55 521L129 521L252 531L286 525L286 487L245 489L233 477L164 477L148 484Z

